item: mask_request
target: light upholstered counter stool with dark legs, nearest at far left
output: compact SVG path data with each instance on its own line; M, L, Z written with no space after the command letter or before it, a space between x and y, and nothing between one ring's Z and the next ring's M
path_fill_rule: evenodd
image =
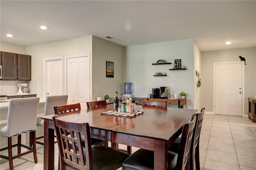
M37 163L36 155L36 117L38 112L39 98L17 98L10 99L7 115L7 123L0 125L0 135L8 138L8 147L0 149L0 151L8 149L8 156L0 155L1 158L9 160L10 170L14 169L13 159L19 158L25 154L33 152L34 162ZM32 146L26 146L21 143L21 135L30 133ZM12 137L18 135L18 142L12 145ZM12 148L17 147L18 154L12 156ZM21 147L28 149L21 153Z

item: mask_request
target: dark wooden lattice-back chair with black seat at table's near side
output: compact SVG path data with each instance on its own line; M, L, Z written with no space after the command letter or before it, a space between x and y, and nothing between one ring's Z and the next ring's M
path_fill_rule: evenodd
M88 123L62 121L57 117L52 119L59 146L61 170L116 170L129 156L110 147L92 145ZM77 147L73 148L70 143Z

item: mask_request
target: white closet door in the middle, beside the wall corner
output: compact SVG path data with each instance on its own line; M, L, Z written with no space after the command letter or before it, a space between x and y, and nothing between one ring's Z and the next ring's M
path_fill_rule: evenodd
M89 57L67 59L68 104L80 103L82 109L90 101L89 64Z

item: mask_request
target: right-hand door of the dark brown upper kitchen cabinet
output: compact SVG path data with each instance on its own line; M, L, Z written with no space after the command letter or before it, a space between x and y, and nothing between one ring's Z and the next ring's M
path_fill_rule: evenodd
M31 55L18 54L18 80L31 80Z

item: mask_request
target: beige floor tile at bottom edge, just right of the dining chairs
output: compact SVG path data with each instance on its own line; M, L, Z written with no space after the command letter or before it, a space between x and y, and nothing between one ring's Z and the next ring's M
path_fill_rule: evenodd
M205 159L204 170L240 170L238 165Z

